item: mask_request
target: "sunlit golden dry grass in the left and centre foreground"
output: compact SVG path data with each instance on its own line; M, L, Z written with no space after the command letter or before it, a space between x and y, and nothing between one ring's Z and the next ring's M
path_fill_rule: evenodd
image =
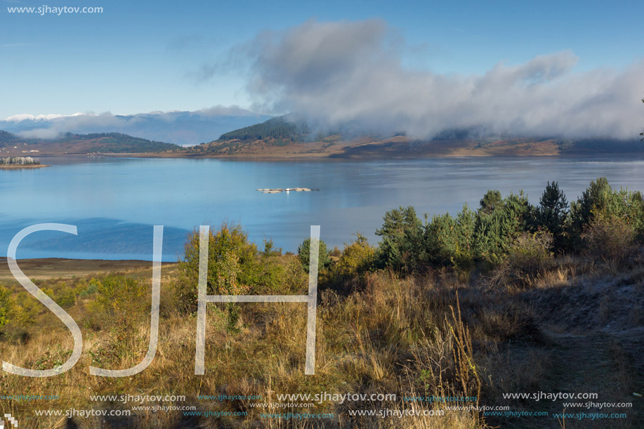
M149 270L131 273L145 278ZM162 302L173 299L172 275L164 273ZM56 282L52 280L52 282ZM149 279L147 280L149 283ZM41 287L45 287L45 284ZM379 409L408 408L400 400L406 392L421 389L426 394L442 391L463 395L471 389L473 350L468 329L459 319L452 286L445 289L440 301L428 301L427 293L437 293L440 286L432 279L397 279L379 273L369 275L363 291L339 296L331 290L320 291L317 325L316 374L304 375L305 306L298 303L242 304L239 332L225 330L225 315L216 305L209 305L206 328L206 375L195 376L194 315L182 314L171 306L162 308L159 346L150 367L136 376L102 378L88 374L90 365L109 369L132 367L145 355L148 341L149 313L142 312L133 329L123 329L125 319L118 312L100 312L96 296L78 299L68 309L84 334L84 354L77 365L55 378L26 378L3 374L3 392L29 395L59 395L48 402L1 402L3 411L22 416L22 427L63 427L60 418L35 416L34 409L106 409L128 408L122 404L92 403L89 395L129 393L131 395L186 395L187 402L200 410L246 411L246 418L185 418L181 411L141 413L120 420L74 418L79 427L267 427L305 428L323 424L347 427L355 417L349 409L368 409L373 404L336 404L324 402L313 409L288 411L334 413L323 421L282 421L262 419L263 409L249 402L197 400L197 395L262 395L277 393L360 392L396 393L399 400L377 404ZM445 298L451 296L451 298ZM140 298L140 306L149 308L149 296ZM125 304L122 304L125 305ZM136 315L131 303L126 315ZM146 310L147 311L147 310ZM448 317L449 316L449 317ZM341 323L340 323L341 321ZM127 324L131 324L127 322ZM46 326L46 331L42 328ZM2 358L28 368L49 368L64 362L70 355L72 338L65 326L44 312L32 326L24 343L4 343ZM44 359L42 357L45 357ZM422 374L440 374L437 383L428 384ZM442 381L441 381L442 380ZM469 392L467 392L469 394ZM162 405L172 405L162 403ZM407 404L408 405L408 404ZM420 404L413 404L420 407ZM120 422L120 423L119 423ZM405 424L412 428L478 428L481 421L471 411L448 413L442 418L361 417L355 423L364 428L393 428ZM352 425L354 423L351 423Z

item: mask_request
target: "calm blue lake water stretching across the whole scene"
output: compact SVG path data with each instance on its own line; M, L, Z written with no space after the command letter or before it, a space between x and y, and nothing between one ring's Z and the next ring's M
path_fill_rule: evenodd
M342 248L356 231L376 242L384 213L413 205L422 213L478 206L488 189L525 190L548 180L568 200L599 176L644 192L644 160L624 158L462 158L395 161L245 162L216 159L42 158L44 169L0 170L0 256L23 227L77 225L78 235L37 232L18 258L152 259L152 225L164 225L164 260L183 253L186 234L223 220L242 223L258 244L272 238L296 251L310 225ZM262 194L257 188L318 192Z

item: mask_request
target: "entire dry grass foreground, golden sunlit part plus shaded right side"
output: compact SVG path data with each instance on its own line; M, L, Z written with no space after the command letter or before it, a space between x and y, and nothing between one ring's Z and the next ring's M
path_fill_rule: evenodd
M625 298L621 289L615 292L589 289L587 284L593 284L593 279L610 276L607 271L610 268L574 258L556 260L520 288L486 288L480 284L485 279L469 282L469 275L449 270L402 279L388 272L369 273L362 289L344 294L322 288L317 313L315 376L304 375L306 314L301 303L240 304L239 330L235 334L225 329L225 313L217 305L209 305L206 375L195 376L196 319L176 310L173 270L164 268L159 346L150 367L126 378L102 378L88 373L90 365L122 369L133 367L142 359L149 335L149 312L146 313L149 296L140 299L142 315L133 321L132 329L126 330L122 329L124 322L119 313L110 312L108 317L108 313L96 310L96 296L78 298L67 309L84 334L84 353L74 369L52 378L0 375L0 391L5 394L59 395L60 399L3 400L1 411L20 416L21 428L63 428L70 422L35 416L34 409L131 407L118 402L91 402L89 395L185 395L186 402L159 405L194 405L201 411L244 411L248 415L197 418L184 416L183 411L136 411L131 418L107 421L74 418L73 423L79 428L559 427L553 418L548 421L527 418L521 423L484 418L479 412L466 410L447 411L444 416L403 418L351 416L350 411L443 409L443 404L402 399L428 395L475 396L480 405L511 405L519 410L549 409L543 408L546 406L543 403L511 402L501 397L504 392L539 390L603 389L603 401L623 402L620 395L635 389L642 376L640 372L635 376L629 374L633 368L641 371L640 364L633 361L638 352L641 355L641 348L633 348L626 337L617 334L600 341L593 336L594 328L582 331L585 320L580 322L577 317L581 310L570 308L566 300L579 302L579 297L585 296L587 305L593 306L589 311L596 311L600 326L615 322L614 313L623 310ZM631 288L636 296L633 299L643 295L643 272L633 269L621 274L624 285L619 287ZM145 279L149 286L150 270L134 270L129 275ZM610 287L615 286L605 286ZM627 289L629 293L631 289ZM127 315L136 314L132 309L129 307ZM643 316L638 306L633 305L620 317L620 321L633 324L634 328ZM29 330L31 334L25 341L1 343L3 360L44 369L69 356L72 338L53 315L43 312ZM572 331L574 336L568 336ZM598 351L589 354L586 350L589 347ZM584 357L584 352L588 356ZM584 377L584 373L596 377ZM598 381L604 378L606 381ZM397 400L322 402L313 408L279 410L334 414L333 418L301 421L261 418L260 414L268 409L252 407L254 401L197 400L198 395L225 394L262 395L261 402L277 402L276 395L280 393L318 392L395 393ZM641 415L638 409L629 413L632 417L622 427L629 427ZM569 428L582 427L574 422L565 424Z

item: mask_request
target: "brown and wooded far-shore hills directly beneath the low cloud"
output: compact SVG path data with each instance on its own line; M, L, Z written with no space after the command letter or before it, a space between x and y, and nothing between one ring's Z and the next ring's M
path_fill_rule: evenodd
M559 138L558 136L494 136L484 129L446 130L428 139L404 133L382 135L339 129L313 131L304 121L274 117L223 133L217 140L185 148L188 156L294 158L414 158L477 156L560 156L644 154L639 138Z

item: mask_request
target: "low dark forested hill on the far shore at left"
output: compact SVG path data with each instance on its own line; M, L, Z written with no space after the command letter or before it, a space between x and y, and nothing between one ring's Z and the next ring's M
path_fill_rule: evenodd
M180 146L121 133L66 133L59 138L23 138L0 131L0 154L143 153L179 150Z

